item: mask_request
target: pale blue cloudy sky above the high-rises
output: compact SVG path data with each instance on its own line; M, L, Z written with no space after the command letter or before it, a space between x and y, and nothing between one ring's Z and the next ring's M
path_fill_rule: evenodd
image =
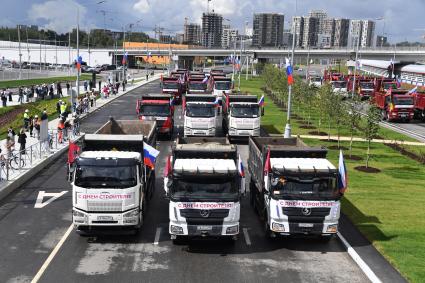
M214 10L225 23L243 31L245 22L252 28L253 13L276 12L290 21L294 15L307 15L322 9L330 17L378 19L375 34L383 32L390 42L422 41L425 34L425 0L2 0L0 25L35 24L67 32L76 26L77 11L83 29L107 28L153 35L155 25L163 34L183 31L185 18L201 23L202 12ZM99 3L102 2L102 3ZM408 4L407 4L408 3ZM78 8L77 8L78 7ZM137 22L137 23L136 23ZM285 22L285 28L289 28Z

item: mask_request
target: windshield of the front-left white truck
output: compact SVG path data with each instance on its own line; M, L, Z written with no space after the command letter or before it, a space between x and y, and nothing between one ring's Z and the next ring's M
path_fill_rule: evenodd
M137 185L136 166L78 166L75 185L84 188L129 188Z

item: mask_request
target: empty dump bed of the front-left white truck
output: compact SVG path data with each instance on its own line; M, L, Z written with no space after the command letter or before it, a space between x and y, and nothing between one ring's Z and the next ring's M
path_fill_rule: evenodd
M83 150L143 151L143 141L155 145L156 122L111 118L94 134L86 134Z

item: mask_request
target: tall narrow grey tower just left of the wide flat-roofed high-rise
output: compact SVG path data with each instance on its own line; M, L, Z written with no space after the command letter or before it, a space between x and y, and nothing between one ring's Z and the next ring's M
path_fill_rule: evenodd
M202 14L202 45L207 48L221 47L223 16L216 13Z

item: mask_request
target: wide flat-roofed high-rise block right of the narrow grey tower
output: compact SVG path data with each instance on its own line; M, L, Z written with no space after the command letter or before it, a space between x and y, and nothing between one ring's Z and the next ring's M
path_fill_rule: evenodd
M276 13L254 14L253 46L279 47L283 44L283 27L285 17Z

